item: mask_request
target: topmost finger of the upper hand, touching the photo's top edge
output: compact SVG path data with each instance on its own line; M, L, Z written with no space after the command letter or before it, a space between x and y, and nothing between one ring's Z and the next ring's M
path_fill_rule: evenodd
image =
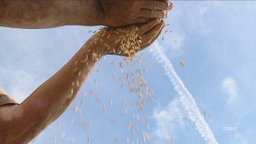
M141 9L151 9L151 10L171 10L172 3L167 1L141 1Z

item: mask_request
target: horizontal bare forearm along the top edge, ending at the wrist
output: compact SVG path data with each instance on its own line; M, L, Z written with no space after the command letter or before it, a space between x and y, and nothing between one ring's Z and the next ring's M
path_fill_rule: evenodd
M0 26L49 28L99 25L96 0L1 0Z

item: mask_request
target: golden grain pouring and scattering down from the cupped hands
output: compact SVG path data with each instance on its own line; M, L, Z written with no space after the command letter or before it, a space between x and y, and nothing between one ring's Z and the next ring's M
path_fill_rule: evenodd
M169 26L170 24L167 24ZM105 35L104 28L102 28L103 34L102 37ZM146 75L146 68L143 68L143 62L144 58L143 55L135 55L136 50L139 49L140 43L142 43L141 39L142 37L139 37L137 35L138 28L136 26L126 27L124 29L118 29L118 33L122 33L123 37L119 37L115 41L115 43L122 43L121 50L116 51L115 49L111 49L107 43L105 43L105 47L109 49L109 52L111 53L125 53L129 57L124 57L121 61L113 60L110 63L110 66L118 66L121 70L121 74L118 75L117 73L113 73L111 76L109 76L111 79L115 80L112 82L118 81L119 88L128 91L130 95L137 95L137 98L134 98L133 101L126 101L125 99L123 102L124 107L124 114L132 113L131 119L129 120L129 123L127 124L128 130L130 130L132 137L127 137L126 143L127 144L138 144L138 143L144 143L147 142L155 143L154 139L150 137L147 133L147 130L150 130L149 124L147 124L147 120L149 119L147 116L143 116L142 112L144 110L144 107L146 107L148 104L154 102L153 95L154 92L152 89L148 87L147 81L145 80ZM89 31L91 33L96 33L97 31ZM165 32L172 32L171 30L166 30ZM111 37L110 34L108 34L109 38ZM138 39L137 41L135 39ZM162 37L162 40L164 40L164 37ZM101 41L101 38L96 37L96 40L94 43L97 43L97 41ZM89 50L88 50L89 52ZM102 55L97 55L95 52L92 53L92 59L99 60ZM105 56L102 57L103 60L106 59ZM77 73L79 77L82 75L82 70L80 70L80 67L78 66L79 62L82 65L88 66L89 65L89 56L85 55L84 60L76 61L74 63L75 68L73 69L73 72ZM157 65L157 64L155 64ZM136 68L134 68L136 67ZM99 67L96 69L96 72L100 72L102 69L102 64L99 64ZM98 82L96 79L93 80L93 84L97 86ZM70 90L71 95L74 95L74 89L77 89L81 86L79 83L79 80L74 80L72 83L73 88ZM89 95L92 95L95 97L96 101L101 101L101 95L98 95L95 91L89 91ZM84 97L87 95L86 92L84 92ZM73 108L73 112L81 112L81 107L84 103L84 97L79 102L79 106ZM114 102L111 99L110 100L110 107L114 107ZM108 111L108 105L104 103L102 105L102 112L104 115L107 114ZM135 111L137 109L137 111ZM74 118L71 120L71 124L73 124ZM115 118L111 118L109 120L110 124L116 124L117 120ZM145 129L142 131L137 130L136 124L143 124ZM90 127L89 122L83 122L81 124L81 127L84 130L87 130ZM61 134L63 137L65 137L66 134ZM55 140L56 141L56 140ZM87 136L87 143L89 144L91 142L91 137ZM114 143L118 142L117 138L113 139Z

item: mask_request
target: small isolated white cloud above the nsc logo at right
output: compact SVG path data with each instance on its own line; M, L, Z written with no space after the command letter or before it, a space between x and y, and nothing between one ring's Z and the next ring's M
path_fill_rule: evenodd
M227 94L228 99L227 102L230 104L231 102L236 101L238 92L237 92L237 84L236 80L232 77L224 78L221 84L221 88L224 93Z

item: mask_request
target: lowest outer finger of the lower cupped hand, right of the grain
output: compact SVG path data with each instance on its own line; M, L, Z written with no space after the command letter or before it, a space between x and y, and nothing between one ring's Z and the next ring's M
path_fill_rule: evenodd
M154 37L158 35L160 30L165 26L164 21L162 20L159 25L155 26L151 31L148 33L144 34L142 36L142 45L147 45L150 43Z

